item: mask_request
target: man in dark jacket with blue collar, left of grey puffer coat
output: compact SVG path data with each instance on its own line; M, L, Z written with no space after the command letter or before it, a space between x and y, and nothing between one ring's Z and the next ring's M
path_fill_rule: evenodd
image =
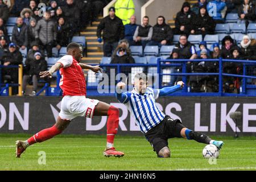
M25 49L28 46L27 26L23 22L22 17L18 17L16 20L16 25L13 28L11 40L16 44L16 46L22 49Z

